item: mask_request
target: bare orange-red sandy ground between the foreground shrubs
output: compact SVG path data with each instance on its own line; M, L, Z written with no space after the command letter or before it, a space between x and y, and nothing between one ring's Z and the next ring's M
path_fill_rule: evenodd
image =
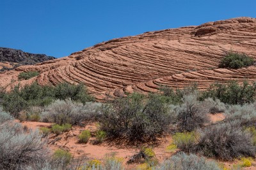
M225 116L223 113L216 113L214 115L209 115L211 118L211 122L218 122L223 120ZM51 127L52 124L50 123L42 123L42 122L22 122L23 125L31 129L37 129L40 127ZM89 130L92 132L92 138L90 138L89 142L86 144L78 143L78 135L81 131ZM111 153L115 153L117 157L122 157L124 159L124 165L128 169L134 169L137 165L127 165L125 162L134 155L138 153L141 146L131 146L122 143L109 143L108 141L104 141L104 143L100 145L93 145L93 141L95 138L93 134L97 131L97 126L95 124L88 124L85 127L72 127L72 130L69 132L65 132L64 134L56 136L55 134L49 134L48 138L48 146L52 150L56 150L58 148L62 148L68 150L68 152L72 153L75 158L83 157L84 159L98 159L103 160L106 155ZM170 145L172 142L172 136L164 136L161 139L158 139L159 142L155 145L145 145L147 147L151 147L154 152L156 153L156 157L159 162L163 162L164 160L168 159L172 155L175 154L174 152L168 152L166 147ZM176 151L177 152L177 151ZM239 161L235 160L233 162L221 162L225 164L225 167L232 167L234 164L237 164ZM255 160L252 162L251 167L246 167L245 169L256 169L256 162Z

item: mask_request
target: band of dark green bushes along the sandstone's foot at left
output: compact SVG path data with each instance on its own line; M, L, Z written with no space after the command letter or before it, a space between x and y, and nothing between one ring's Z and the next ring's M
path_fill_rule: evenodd
M68 83L60 83L56 87L40 86L38 83L24 87L17 85L10 92L1 92L0 97L4 110L16 118L20 111L26 110L29 106L47 106L54 99L67 99L69 97L84 104L88 101L94 101L94 98L87 94L83 84L70 85Z

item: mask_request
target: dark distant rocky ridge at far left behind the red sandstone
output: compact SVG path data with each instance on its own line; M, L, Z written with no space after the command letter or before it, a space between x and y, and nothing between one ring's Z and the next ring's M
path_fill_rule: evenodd
M33 65L38 62L55 59L45 54L22 52L12 48L0 47L0 69L12 69L22 65Z

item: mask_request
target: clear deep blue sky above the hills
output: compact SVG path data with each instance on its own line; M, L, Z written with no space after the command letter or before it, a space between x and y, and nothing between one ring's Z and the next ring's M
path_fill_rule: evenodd
M255 17L256 0L0 0L0 46L64 57L113 38Z

